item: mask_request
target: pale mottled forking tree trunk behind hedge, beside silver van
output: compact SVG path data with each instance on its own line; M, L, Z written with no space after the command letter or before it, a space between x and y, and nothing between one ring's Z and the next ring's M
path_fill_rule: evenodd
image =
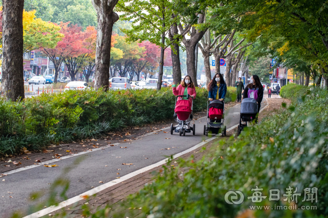
M118 15L113 12L117 1L93 0L98 15L95 88L108 90L109 66L111 58L111 41L114 23Z

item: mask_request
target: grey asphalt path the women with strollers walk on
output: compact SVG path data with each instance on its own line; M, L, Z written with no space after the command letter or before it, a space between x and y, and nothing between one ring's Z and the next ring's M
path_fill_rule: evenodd
M227 129L239 123L240 104L225 111L224 125ZM109 182L117 177L127 175L140 168L159 162L170 155L185 151L196 144L212 137L203 135L206 119L193 120L196 125L196 134L186 133L179 136L163 131L134 140L134 143L123 143L118 146L90 152L88 154L55 162L57 167L34 167L17 172L0 180L0 216L9 217L13 211L20 210L25 214L35 212L29 210L31 206L47 199L51 184L57 179L70 180L67 197L73 198L85 191ZM169 139L166 139L169 138ZM127 148L120 148L127 147ZM168 150L168 148L170 148ZM83 160L74 164L78 158ZM133 163L122 165L122 163ZM71 167L71 171L64 169ZM121 169L121 170L117 170ZM119 173L119 174L117 174ZM37 201L31 201L30 194L40 191L43 195ZM12 198L10 198L10 196ZM61 199L63 200L63 199ZM48 205L49 206L49 205Z

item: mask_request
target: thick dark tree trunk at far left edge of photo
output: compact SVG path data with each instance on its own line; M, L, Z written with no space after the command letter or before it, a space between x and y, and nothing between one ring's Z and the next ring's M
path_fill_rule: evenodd
M24 0L3 0L3 82L7 100L25 98L23 70Z

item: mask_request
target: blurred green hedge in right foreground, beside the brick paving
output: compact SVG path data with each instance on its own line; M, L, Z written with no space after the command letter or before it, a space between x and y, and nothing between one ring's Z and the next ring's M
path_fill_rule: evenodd
M156 180L131 196L122 207L142 208L138 217L327 217L328 216L328 91L285 89L288 96L301 96L287 110L264 118L256 127L245 129L236 140L231 137L214 146L215 152L202 161L178 160L179 166L165 168ZM294 90L294 92L292 91ZM305 95L306 94L306 97ZM291 97L292 98L292 97ZM285 105L283 105L285 106ZM191 167L186 171L185 167ZM184 172L184 173L181 173ZM252 188L263 188L267 196L253 203ZM251 205L289 206L283 201L286 188L301 193L297 208L316 210L253 210ZM304 188L318 188L318 202L304 201ZM269 201L270 189L280 190L279 201ZM240 205L224 200L228 190L243 192ZM88 208L86 208L86 211ZM104 211L92 217L105 217ZM140 210L125 210L131 213ZM87 214L87 212L85 212ZM114 212L115 213L115 212ZM130 217L130 214L126 214ZM240 214L244 213L244 214ZM251 212L253 213L253 212ZM112 214L114 215L114 214ZM116 214L117 217L125 217Z

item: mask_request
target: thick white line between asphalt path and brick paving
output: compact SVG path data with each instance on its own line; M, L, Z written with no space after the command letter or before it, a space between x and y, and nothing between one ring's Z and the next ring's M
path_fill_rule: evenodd
M180 157L182 155L185 155L185 154L187 154L189 152L192 152L193 150L198 149L199 147L203 146L204 144L206 144L206 143L208 143L208 142L210 142L210 141L212 141L212 140L214 140L214 139L216 139L218 137L219 136L214 136L212 138L207 139L206 141L200 142L200 143L196 144L196 146L194 146L194 147L192 147L190 149L187 149L186 151L183 151L183 152L180 152L178 154L173 155L173 158L175 159L175 158ZM102 191L102 190L104 190L106 188L109 188L109 187L111 187L113 185L116 185L116 184L118 184L120 182L124 182L124 181L126 181L128 179L131 179L134 176L137 176L137 175L141 174L141 173L145 173L145 172L149 171L152 168L155 168L157 166L163 165L163 164L165 164L168 161L168 159L169 158L166 158L166 159L161 160L161 161L159 161L157 163L154 163L152 165L149 165L149 166L146 166L144 168L141 168L141 169L139 169L139 170L137 170L135 172L132 172L130 174L127 174L125 176L122 176L119 179L112 180L112 181L107 182L107 183L105 183L103 185L100 185L100 186L98 186L96 188L90 189L89 191L86 191L84 193L81 193L81 195L78 195L78 196L75 196L75 197L73 197L71 199L68 199L66 201L63 201L63 202L59 203L57 206L50 206L50 207L45 208L43 210L40 210L40 211L37 211L37 212L32 213L30 215L27 215L27 216L25 216L23 218L38 218L38 217L42 217L44 215L47 215L47 214L49 214L49 213L51 213L53 211L59 210L59 209L61 209L63 207L66 207L68 205L74 204L74 203L76 203L76 202L78 202L80 200L85 199L84 196L92 196L92 195L98 193L99 191Z

